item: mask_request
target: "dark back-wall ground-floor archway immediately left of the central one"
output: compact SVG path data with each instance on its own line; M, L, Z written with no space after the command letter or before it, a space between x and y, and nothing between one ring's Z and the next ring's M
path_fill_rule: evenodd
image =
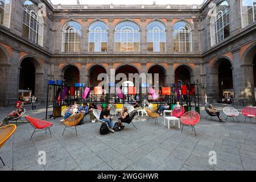
M90 85L97 86L102 82L103 80L98 80L98 75L101 73L106 74L106 69L102 67L101 65L94 65L92 68L89 70L89 83Z

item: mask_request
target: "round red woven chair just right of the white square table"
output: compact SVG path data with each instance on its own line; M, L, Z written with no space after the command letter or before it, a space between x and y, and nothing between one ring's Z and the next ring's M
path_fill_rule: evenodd
M180 121L183 124L181 133L183 131L184 125L186 125L186 126L191 126L192 131L195 131L195 135L196 135L195 125L200 121L199 113L197 113L196 111L188 111L180 118Z

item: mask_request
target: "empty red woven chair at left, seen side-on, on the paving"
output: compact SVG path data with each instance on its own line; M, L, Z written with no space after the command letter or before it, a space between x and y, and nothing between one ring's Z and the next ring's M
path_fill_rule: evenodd
M30 122L30 124L34 127L34 132L32 133L30 140L32 139L34 133L38 132L38 131L43 131L46 130L47 133L47 129L49 129L49 132L51 134L52 137L52 133L50 130L50 127L52 127L53 123L48 122L48 121L43 121L41 119L36 119L30 116L25 116L25 118L27 119L28 122Z

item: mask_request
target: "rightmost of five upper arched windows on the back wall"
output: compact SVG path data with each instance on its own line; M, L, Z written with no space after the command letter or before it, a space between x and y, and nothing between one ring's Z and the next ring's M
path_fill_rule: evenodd
M191 26L187 22L174 24L174 52L192 52Z

